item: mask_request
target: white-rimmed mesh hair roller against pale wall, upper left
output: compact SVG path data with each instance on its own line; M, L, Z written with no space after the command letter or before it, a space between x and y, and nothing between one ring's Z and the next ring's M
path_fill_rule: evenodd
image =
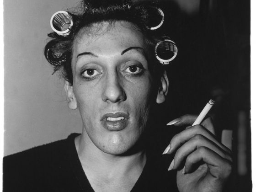
M70 33L73 19L67 11L58 11L53 14L50 24L54 32L65 37Z

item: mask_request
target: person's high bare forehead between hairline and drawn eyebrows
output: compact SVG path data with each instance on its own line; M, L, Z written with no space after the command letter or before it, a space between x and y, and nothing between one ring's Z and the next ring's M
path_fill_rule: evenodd
M94 51L98 54L122 52L129 47L146 50L144 36L139 29L127 21L95 23L80 30L73 43L73 53Z

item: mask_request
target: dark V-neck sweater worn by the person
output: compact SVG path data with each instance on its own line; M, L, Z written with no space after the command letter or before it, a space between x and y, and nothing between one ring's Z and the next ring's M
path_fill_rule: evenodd
M6 156L4 192L93 192L75 149L78 135ZM132 192L176 192L176 172L167 171L170 162L148 155Z

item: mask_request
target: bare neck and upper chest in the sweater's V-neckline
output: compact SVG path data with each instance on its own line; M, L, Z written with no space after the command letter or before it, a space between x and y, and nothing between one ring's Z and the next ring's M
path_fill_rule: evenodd
M98 149L84 132L75 139L75 146L94 191L131 191L146 163L145 152L110 155Z

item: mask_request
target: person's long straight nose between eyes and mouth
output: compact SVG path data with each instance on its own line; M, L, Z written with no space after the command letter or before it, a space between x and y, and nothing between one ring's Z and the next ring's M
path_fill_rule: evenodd
M126 94L117 73L108 74L104 85L102 93L103 101L116 103L126 100Z

